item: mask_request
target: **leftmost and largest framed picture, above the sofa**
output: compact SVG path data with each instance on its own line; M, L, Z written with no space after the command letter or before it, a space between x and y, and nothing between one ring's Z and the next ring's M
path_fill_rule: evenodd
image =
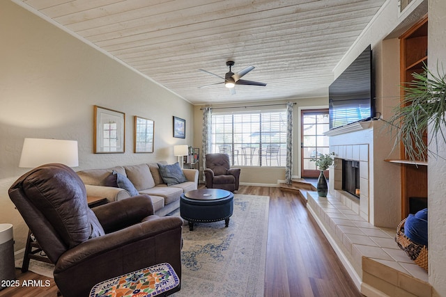
M93 149L95 154L125 151L125 113L94 106Z

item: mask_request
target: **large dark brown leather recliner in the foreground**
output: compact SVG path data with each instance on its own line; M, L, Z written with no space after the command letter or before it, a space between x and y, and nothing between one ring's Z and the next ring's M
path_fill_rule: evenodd
M53 163L22 175L9 196L55 264L64 297L89 296L98 282L163 262L181 277L183 220L153 215L148 195L89 209L81 179Z

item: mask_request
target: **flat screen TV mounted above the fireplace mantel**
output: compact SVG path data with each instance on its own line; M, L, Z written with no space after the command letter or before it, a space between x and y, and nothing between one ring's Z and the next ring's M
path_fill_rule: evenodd
M374 117L374 79L371 67L371 46L328 88L330 129Z

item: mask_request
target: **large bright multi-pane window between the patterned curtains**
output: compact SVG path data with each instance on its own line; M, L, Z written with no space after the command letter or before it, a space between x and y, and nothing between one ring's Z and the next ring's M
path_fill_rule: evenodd
M284 167L286 111L213 113L211 150L229 154L232 165Z

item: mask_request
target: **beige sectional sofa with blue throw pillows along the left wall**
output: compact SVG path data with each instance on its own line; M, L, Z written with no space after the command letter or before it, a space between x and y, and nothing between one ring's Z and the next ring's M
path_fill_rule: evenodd
M158 162L164 166L167 162ZM163 172L164 173L164 172ZM87 196L107 198L109 202L128 198L130 190L116 183L117 177L126 177L139 194L147 194L153 202L153 209L158 216L165 216L180 206L180 195L197 189L198 170L183 169L186 182L167 185L162 178L157 163L143 163L130 166L115 166L107 169L78 171L77 175L86 186ZM171 184L171 183L170 183Z

